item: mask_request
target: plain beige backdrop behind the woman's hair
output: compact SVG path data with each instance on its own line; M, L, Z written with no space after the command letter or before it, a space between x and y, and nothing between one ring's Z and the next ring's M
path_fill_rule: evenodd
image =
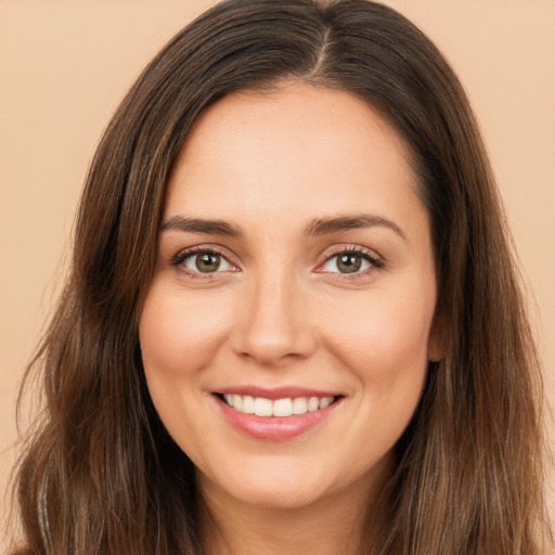
M14 455L16 388L63 275L98 139L143 65L211 3L0 0L2 493ZM555 0L387 3L440 46L474 103L529 282L555 404Z

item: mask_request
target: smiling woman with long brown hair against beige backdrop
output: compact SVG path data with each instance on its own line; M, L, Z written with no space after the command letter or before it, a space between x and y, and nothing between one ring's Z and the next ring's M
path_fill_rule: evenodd
M232 0L156 56L36 363L21 553L544 553L493 179L380 4Z

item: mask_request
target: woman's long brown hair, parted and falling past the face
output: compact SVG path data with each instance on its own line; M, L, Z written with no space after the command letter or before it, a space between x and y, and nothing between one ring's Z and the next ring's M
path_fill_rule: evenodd
M542 389L507 230L456 76L396 11L364 0L230 0L179 33L107 127L72 271L28 374L43 411L22 457L21 554L201 554L193 465L151 402L138 317L168 175L218 99L286 79L365 99L403 138L429 210L444 357L385 485L367 553L539 555ZM372 545L372 546L371 546Z

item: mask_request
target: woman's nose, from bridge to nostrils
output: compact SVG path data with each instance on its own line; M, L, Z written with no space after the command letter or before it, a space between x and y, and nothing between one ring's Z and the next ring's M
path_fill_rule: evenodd
M246 287L232 333L232 345L240 357L264 366L280 366L312 354L315 330L306 310L306 294L300 289L285 272L264 273Z

